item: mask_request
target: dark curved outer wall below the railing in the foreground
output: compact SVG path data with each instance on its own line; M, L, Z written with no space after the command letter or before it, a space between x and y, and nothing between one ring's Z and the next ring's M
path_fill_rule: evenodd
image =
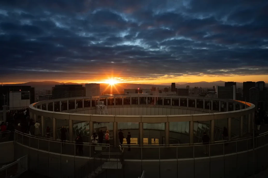
M255 149L255 171L268 165L267 144ZM3 153L3 152L1 152ZM16 143L15 159L29 155L29 169L49 177L75 177L75 170L87 163L87 157L68 156L40 151ZM2 155L1 155L2 156ZM169 160L125 160L123 170L107 170L99 177L240 178L253 173L253 151L211 157ZM106 174L107 173L107 174Z

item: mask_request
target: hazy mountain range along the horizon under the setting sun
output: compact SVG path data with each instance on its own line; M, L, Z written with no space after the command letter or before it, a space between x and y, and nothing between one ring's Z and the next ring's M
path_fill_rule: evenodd
M5 86L10 86L10 85L21 85L21 86L32 86L35 88L35 90L51 90L52 87L55 85L69 85L69 84L74 84L74 85L83 85L85 86L84 83L78 84L78 83L60 83L60 82L55 82L55 81L43 81L43 82L27 82L27 83L20 83L20 84L6 84ZM186 83L186 84L176 84L176 88L186 88L187 85L190 86L190 88L196 87L202 87L202 88L213 88L213 86L219 85L219 86L224 86L225 81L215 81L215 82L193 82L193 83ZM170 85L160 85L160 84L132 84L132 83L119 83L116 84L114 87L114 92L121 92L124 91L124 89L135 89L135 88L142 88L142 89L151 89L152 86L155 86L156 88L159 87L160 89L163 89L165 87L169 87ZM109 90L111 88L109 84L101 83L100 84L100 91L104 92L105 89ZM236 82L236 88L243 88L243 83Z

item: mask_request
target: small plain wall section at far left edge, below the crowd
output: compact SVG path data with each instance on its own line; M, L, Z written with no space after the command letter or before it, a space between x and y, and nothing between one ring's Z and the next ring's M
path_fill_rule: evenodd
M0 143L0 164L11 163L14 160L14 142Z

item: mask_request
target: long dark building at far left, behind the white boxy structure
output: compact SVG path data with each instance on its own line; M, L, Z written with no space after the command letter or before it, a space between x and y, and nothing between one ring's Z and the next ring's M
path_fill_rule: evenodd
M2 105L9 106L9 93L10 92L27 92L30 94L30 104L35 102L35 88L31 86L0 86L0 110L2 110Z

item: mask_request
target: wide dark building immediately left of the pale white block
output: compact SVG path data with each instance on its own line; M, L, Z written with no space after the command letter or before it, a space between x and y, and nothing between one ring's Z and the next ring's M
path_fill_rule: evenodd
M72 98L85 96L83 85L55 85L52 87L52 98Z

